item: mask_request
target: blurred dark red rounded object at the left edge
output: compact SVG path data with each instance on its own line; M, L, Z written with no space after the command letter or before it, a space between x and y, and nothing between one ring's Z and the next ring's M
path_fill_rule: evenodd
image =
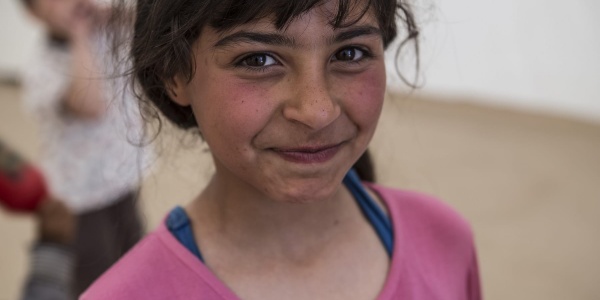
M46 196L42 174L0 142L0 204L11 211L32 212Z

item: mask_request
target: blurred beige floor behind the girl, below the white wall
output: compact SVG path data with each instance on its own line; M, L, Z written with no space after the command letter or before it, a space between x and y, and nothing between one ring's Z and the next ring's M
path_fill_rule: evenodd
M0 87L0 138L35 160L19 91ZM143 191L149 228L211 173L202 142L167 129ZM600 299L600 124L390 96L372 143L379 182L442 198L472 224L486 299ZM34 223L0 211L0 300L18 299Z

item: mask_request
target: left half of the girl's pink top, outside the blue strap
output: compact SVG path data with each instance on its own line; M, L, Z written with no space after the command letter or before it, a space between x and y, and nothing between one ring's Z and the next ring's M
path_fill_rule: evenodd
M230 294L162 222L80 299L230 299Z

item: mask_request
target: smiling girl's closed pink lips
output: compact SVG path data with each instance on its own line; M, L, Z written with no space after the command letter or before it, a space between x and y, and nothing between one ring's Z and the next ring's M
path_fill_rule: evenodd
M281 158L300 164L324 163L332 159L340 150L343 143L328 146L309 146L298 148L271 149Z

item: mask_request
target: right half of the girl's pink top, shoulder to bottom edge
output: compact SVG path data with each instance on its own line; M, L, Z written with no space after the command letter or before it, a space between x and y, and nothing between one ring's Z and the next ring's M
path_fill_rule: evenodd
M368 184L394 228L394 286L382 299L481 299L471 226L430 195ZM411 296L409 296L411 295Z

